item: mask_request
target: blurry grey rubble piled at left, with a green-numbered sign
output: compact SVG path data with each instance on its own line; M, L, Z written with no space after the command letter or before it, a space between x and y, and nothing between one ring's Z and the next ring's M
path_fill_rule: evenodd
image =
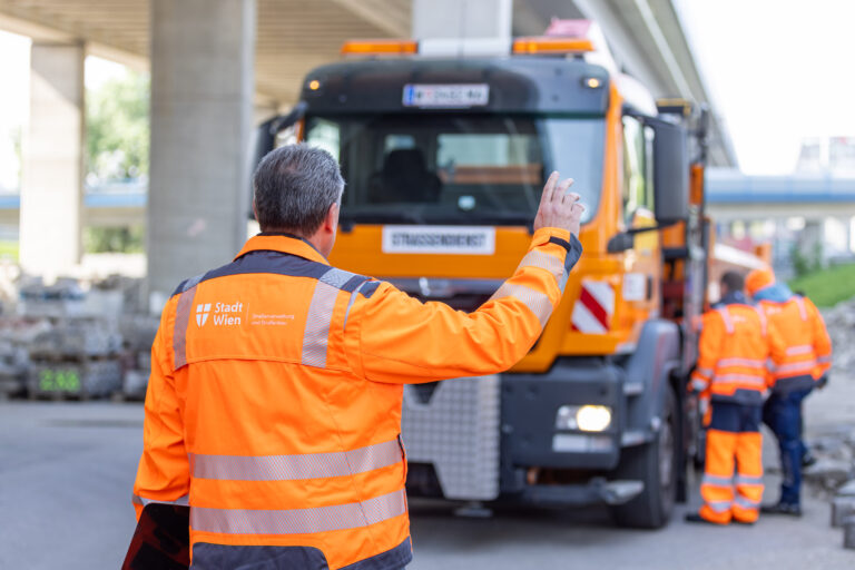
M24 277L0 302L0 397L145 396L158 318L139 279Z

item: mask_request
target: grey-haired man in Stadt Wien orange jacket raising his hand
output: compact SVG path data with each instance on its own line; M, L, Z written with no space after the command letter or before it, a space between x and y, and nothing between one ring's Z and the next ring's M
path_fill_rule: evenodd
M305 145L268 154L254 176L262 234L164 309L137 515L189 504L197 569L403 568L403 384L493 374L525 355L581 255L571 183L550 176L528 254L466 314L331 267L338 165Z

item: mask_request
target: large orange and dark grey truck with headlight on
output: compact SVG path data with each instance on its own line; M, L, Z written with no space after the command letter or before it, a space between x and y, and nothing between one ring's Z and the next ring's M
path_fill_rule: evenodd
M522 361L405 386L410 494L607 503L619 524L665 524L696 448L685 385L708 274L705 114L657 106L581 20L343 53L307 75L256 150L291 137L338 159L333 265L472 311L524 255L549 173L574 178L587 206L582 259Z

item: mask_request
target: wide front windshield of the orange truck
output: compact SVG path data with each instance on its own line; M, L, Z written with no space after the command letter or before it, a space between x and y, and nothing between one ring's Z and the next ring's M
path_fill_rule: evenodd
M576 180L588 222L600 196L603 137L601 117L306 119L306 141L342 165L345 223L529 224L552 170Z

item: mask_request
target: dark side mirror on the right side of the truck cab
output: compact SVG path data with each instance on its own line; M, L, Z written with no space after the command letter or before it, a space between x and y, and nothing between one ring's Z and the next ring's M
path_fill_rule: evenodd
M645 118L653 137L653 214L660 226L689 218L689 160L686 129Z

